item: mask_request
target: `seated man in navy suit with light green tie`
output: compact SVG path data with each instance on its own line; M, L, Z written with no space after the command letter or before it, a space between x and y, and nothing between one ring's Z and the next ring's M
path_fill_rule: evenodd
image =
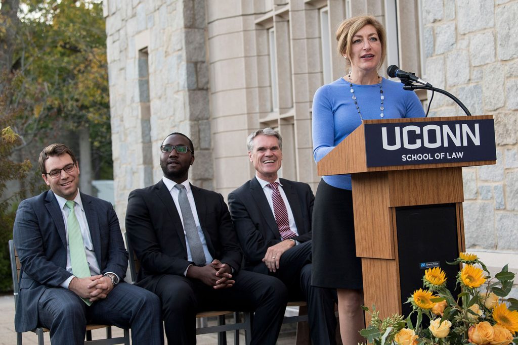
M13 229L22 273L17 332L50 329L83 344L87 323L131 327L134 344L163 344L159 299L122 281L128 255L111 204L79 192L79 164L63 144L39 155L50 191L24 200Z

